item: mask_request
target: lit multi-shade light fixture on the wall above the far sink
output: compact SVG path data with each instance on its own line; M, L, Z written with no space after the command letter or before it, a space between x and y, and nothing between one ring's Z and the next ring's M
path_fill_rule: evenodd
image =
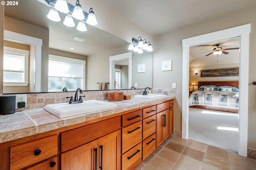
M133 38L132 43L129 44L128 50L133 50L137 53L143 53L143 50L146 51L153 51L152 45L150 42L146 41L146 39L142 40L141 37L138 37L138 39Z

